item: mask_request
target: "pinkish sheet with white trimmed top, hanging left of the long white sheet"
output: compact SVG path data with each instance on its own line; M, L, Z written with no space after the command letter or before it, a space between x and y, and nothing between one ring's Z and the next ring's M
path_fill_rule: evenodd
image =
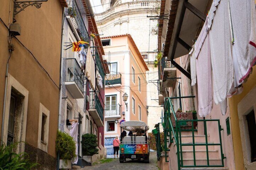
M200 43L200 53L196 58L197 69L197 89L198 89L198 114L201 117L207 116L213 108L213 92L212 92L212 69L211 69L211 52L210 37L207 35L208 22L203 25L202 31L198 39L204 37L204 41L197 41L195 46Z

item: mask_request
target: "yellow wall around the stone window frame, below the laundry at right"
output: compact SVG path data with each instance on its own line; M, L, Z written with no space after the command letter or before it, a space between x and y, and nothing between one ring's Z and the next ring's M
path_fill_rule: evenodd
M231 130L232 130L232 139L233 139L233 147L234 147L234 155L235 155L235 169L242 170L244 167L244 157L239 129L239 119L238 119L238 103L251 91L252 88L256 85L256 70L255 66L253 67L253 72L249 76L247 82L243 84L243 92L239 95L234 95L229 98L229 108L230 108L230 121L231 121Z

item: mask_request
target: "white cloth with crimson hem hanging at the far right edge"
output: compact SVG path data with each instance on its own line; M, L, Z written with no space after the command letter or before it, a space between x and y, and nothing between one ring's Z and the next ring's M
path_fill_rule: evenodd
M251 42L251 45L248 44L250 40L255 42L256 11L253 1L230 0L229 2L234 35L232 45L234 84L235 87L239 87L250 74L251 67L256 60L255 47Z

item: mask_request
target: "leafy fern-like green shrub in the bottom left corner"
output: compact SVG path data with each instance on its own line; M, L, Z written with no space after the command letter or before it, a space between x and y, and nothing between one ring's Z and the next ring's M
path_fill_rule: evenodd
M38 163L31 162L29 155L25 152L15 153L17 145L20 142L0 146L0 169L32 169L38 166Z

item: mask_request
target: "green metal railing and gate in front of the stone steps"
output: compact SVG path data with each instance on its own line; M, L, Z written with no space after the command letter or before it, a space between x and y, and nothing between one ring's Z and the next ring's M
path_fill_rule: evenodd
M194 96L188 96L188 97L194 97ZM165 98L165 104L164 104L164 137L165 137L165 162L169 162L167 160L167 152L170 151L167 147L168 143L173 143L175 141L176 147L177 147L177 159L178 159L178 169L181 169L181 167L224 167L224 154L222 151L222 141L221 141L221 130L223 130L220 126L220 122L218 119L201 119L201 120L178 120L173 105L171 103L171 98L174 97L168 97ZM182 97L187 98L187 97ZM173 116L175 121L175 127L171 121L171 116ZM187 122L191 122L192 126L194 122L203 122L204 125L204 131L205 131L205 143L196 143L195 142L195 134L194 131L196 131L194 128L192 129L192 140L193 142L190 143L184 143L182 144L182 137L181 137L181 126L186 125ZM218 123L218 130L219 130L219 143L218 144L212 144L208 143L208 137L207 137L207 122L217 122ZM174 139L174 141L173 141ZM183 153L182 153L182 147L183 146L192 146L193 147L193 162L194 165L183 165ZM197 165L196 164L196 156L195 156L195 146L206 146L206 165ZM220 152L221 152L221 164L219 165L210 165L210 159L209 159L209 146L219 146Z

